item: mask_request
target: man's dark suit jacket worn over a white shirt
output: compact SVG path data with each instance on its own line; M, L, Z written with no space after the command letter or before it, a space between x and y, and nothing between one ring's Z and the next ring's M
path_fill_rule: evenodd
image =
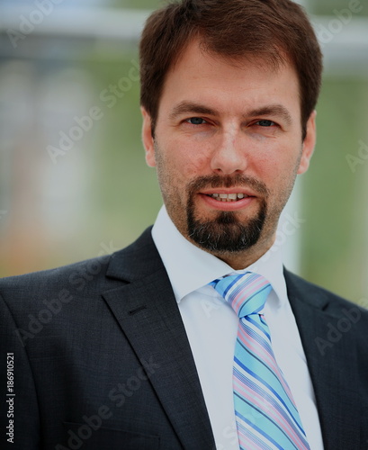
M368 312L287 271L285 278L325 448L367 450ZM8 435L1 448L214 448L150 229L112 256L3 279L0 294L3 439L6 416L14 419L13 444ZM4 395L7 354L15 397Z

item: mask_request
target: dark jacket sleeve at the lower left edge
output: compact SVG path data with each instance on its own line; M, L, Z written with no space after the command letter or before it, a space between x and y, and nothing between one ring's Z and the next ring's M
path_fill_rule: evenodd
M0 448L40 450L40 414L27 347L0 294Z

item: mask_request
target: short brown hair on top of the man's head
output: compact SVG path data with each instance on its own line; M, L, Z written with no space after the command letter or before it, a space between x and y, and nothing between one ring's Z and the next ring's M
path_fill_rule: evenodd
M151 116L152 134L166 74L196 37L204 50L224 58L257 58L274 68L291 62L304 139L319 96L322 54L307 15L291 0L182 0L151 14L139 54L140 103Z

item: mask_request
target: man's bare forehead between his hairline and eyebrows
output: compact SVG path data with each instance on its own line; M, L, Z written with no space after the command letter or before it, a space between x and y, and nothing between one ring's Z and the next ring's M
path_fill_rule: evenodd
M299 82L296 71L285 60L279 67L260 58L229 59L209 53L193 40L170 68L160 98L158 115L174 103L211 103L216 109L233 106L260 107L285 103L300 115ZM294 110L294 111L293 111Z

